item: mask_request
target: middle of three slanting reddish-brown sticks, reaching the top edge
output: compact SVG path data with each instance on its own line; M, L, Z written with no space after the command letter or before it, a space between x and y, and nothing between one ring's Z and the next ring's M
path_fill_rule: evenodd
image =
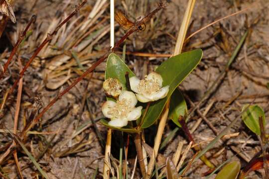
M19 77L16 79L16 81L14 82L13 86L11 87L11 89L8 90L8 96L13 92L13 90L16 88L19 79L22 78L22 76L24 75L25 71L27 70L27 68L30 66L30 64L32 63L33 59L37 56L37 54L42 50L42 48L52 39L52 36L55 35L58 30L69 20L71 19L78 11L79 9L87 2L87 0L84 0L64 21L62 21L57 27L56 29L51 33L47 35L47 38L39 45L39 47L35 50L35 52L33 53L33 55L31 56L31 58L29 59L29 61L26 63L26 65L23 67L22 71L19 73ZM7 97L8 97L7 96Z

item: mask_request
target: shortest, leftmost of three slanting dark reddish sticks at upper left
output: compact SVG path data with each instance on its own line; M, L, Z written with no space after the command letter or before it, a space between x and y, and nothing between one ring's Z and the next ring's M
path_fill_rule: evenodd
M3 71L2 71L2 73L0 74L0 79L3 77L4 73L6 72L8 65L10 64L10 62L11 62L13 56L15 55L15 53L16 53L18 47L19 47L19 44L20 44L20 43L22 42L22 40L25 38L26 33L27 33L27 31L28 31L30 25L31 25L32 23L35 23L35 20L36 20L36 15L32 15L32 17L31 17L30 21L28 22L28 24L27 24L26 28L24 29L24 31L23 31L21 34L19 34L18 40L17 40L16 44L14 45L14 47L13 47L13 49L12 49L12 51L11 51L11 53L10 53L10 55L9 55L9 57L8 57L8 59L7 59L7 61L6 61L6 63L5 63L4 66L3 66Z

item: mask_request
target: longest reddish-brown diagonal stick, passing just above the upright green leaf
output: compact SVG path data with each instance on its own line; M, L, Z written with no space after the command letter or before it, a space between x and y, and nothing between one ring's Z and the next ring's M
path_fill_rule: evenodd
M29 125L29 127L23 129L23 131L28 131L32 126L34 126L39 119L44 115L44 113L58 100L60 99L66 92L68 92L70 89L72 89L75 85L77 85L83 78L85 78L87 75L89 75L98 65L100 65L111 52L114 52L116 48L118 48L127 37L129 37L132 33L138 31L138 27L143 24L144 22L148 21L155 13L157 13L160 9L164 8L166 4L159 3L159 6L150 12L148 15L146 15L144 18L142 18L140 21L138 21L134 27L132 27L116 44L113 48L111 48L105 55L103 55L95 64L93 64L86 72L84 72L79 78L77 78L69 87L64 89L62 92L60 92L52 101L48 103L48 105L39 113L39 115L33 120L33 123Z

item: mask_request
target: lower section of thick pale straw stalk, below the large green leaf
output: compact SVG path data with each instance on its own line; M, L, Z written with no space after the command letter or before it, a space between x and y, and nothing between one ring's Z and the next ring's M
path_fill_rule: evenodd
M148 163L146 179L150 179L152 171L154 169L155 157L158 154L158 150L159 150L159 146L160 146L160 142L161 142L161 137L162 137L162 134L163 134L163 131L165 128L165 124L166 124L166 120L167 120L167 116L168 116L168 112L169 112L169 103L170 103L170 100L167 101L165 108L163 110L163 113L161 115L160 123L158 126L158 131L156 134L156 139L155 139L155 143L154 143L154 147L153 147L153 152L152 152L152 155L151 155L149 163Z

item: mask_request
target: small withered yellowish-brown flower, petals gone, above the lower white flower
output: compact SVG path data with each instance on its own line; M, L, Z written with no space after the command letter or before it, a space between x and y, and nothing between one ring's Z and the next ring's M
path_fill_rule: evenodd
M108 95L118 97L122 92L122 84L118 79L109 78L103 83L103 89Z

